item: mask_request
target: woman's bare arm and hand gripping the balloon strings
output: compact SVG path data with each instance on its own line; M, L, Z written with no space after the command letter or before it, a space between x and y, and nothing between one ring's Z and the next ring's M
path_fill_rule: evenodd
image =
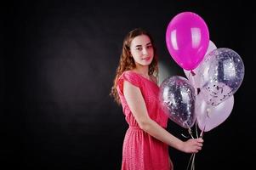
M151 120L147 113L145 100L143 99L138 87L134 86L130 82L124 81L123 94L134 118L139 124L139 127L146 133L149 133L151 136L161 140L163 143L186 153L196 153L198 150L202 149L202 139L189 139L184 142L176 138L173 134L168 133L167 130L158 125L155 121Z

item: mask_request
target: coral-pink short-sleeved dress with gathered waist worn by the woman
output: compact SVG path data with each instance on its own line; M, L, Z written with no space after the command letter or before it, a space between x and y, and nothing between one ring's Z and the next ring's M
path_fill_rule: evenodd
M128 122L128 130L122 146L122 170L170 170L168 145L145 133L136 122L123 95L123 81L139 87L147 111L152 120L167 127L168 117L157 105L159 87L134 71L124 71L117 82L122 111Z

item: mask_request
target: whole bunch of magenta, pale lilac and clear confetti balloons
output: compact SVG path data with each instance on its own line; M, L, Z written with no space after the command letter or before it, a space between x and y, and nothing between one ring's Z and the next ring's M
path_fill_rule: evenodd
M160 86L159 101L168 117L181 127L195 122L202 132L219 126L230 116L234 96L244 77L239 54L217 48L208 26L192 12L177 14L166 31L168 52L185 77L168 77Z

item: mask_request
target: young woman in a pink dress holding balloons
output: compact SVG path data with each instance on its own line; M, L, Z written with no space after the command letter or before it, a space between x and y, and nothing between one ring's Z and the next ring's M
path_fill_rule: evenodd
M128 32L111 88L129 125L122 147L122 170L170 170L168 146L185 153L202 149L202 139L182 141L165 129L168 117L157 102L157 73L151 35L140 28Z

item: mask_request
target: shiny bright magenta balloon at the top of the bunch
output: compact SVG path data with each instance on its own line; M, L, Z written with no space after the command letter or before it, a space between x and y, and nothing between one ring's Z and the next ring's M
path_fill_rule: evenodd
M191 71L199 65L208 43L208 26L198 14L180 13L169 22L166 31L168 52L185 70Z

